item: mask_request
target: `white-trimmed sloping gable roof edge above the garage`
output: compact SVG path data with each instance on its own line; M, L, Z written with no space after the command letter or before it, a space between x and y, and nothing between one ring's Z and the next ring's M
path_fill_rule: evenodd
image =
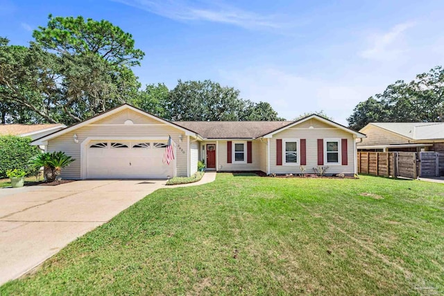
M134 107L132 105L123 104L123 105L120 105L119 107L115 107L115 108L113 108L111 110L108 110L107 112L103 112L101 114L98 114L98 115L96 115L96 116L94 116L94 117L92 117L90 119L87 119L87 120L82 121L80 123L76 123L74 125L71 125L68 128L64 128L63 130L59 130L57 132L53 132L53 133L48 134L48 135L46 135L44 137L41 137L39 139L35 139L31 143L32 144L36 144L36 145L42 144L42 142L44 142L44 141L48 141L50 139L59 137L62 134L66 134L67 132L71 132L73 130L77 130L78 128L81 128L81 127L83 127L85 125L92 124L92 123L99 123L99 121L102 121L103 119L106 119L108 116L112 116L113 114L118 114L119 112L122 112L124 110L131 110L133 112L136 112L137 114L141 114L142 116L147 116L149 119L154 119L155 121L158 121L159 123L164 123L164 124L167 124L167 125L171 125L171 126L173 126L173 128L177 128L178 130L182 130L187 135L198 137L198 134L196 132L192 131L192 130L189 130L187 128L183 128L182 126L177 125L176 123L172 123L170 121L166 121L166 120L161 119L160 117L157 117L157 116L155 116L153 114L149 114L148 112L144 112L143 110L140 110L140 109L138 109L138 108L136 108L136 107ZM106 123L103 123L103 124L106 124ZM120 124L120 123L114 123L114 124ZM125 123L123 122L121 124L125 124Z

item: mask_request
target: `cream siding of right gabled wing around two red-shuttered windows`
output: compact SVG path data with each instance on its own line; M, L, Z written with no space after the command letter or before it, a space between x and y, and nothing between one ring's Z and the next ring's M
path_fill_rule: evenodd
M313 128L309 128L312 126ZM333 128L331 125L312 119L312 122L302 123L301 125L295 125L293 128L288 128L278 134L274 134L270 139L270 173L286 174L286 173L301 173L300 166L278 166L276 165L276 139L306 139L306 151L307 151L307 165L305 173L314 173L313 168L318 166L318 139L347 139L347 151L348 151L348 165L331 165L329 166L326 175L332 175L336 173L344 173L352 175L355 173L354 169L354 147L353 143L355 139L353 134L345 132L339 128ZM324 147L325 148L325 147ZM339 159L341 162L341 159Z

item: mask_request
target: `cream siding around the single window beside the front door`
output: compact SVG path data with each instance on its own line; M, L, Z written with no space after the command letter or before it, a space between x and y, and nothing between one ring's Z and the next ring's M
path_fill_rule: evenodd
M262 141L265 143L265 140ZM266 157L266 146L260 140L253 140L251 150L253 154L251 164L236 164L234 162L228 164L227 141L219 141L219 153L217 153L219 155L219 168L217 171L262 171L261 162L264 161L262 158ZM234 150L232 150L232 153L234 153Z

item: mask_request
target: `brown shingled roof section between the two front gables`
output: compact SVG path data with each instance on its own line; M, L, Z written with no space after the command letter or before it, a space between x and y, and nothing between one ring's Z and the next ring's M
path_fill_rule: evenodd
M255 139L294 121L174 121L206 139Z

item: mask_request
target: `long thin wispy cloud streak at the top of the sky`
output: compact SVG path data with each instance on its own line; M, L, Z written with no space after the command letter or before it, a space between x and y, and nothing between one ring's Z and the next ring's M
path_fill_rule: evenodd
M277 29L286 24L273 15L264 16L214 1L113 0L177 21L211 21L250 29Z

